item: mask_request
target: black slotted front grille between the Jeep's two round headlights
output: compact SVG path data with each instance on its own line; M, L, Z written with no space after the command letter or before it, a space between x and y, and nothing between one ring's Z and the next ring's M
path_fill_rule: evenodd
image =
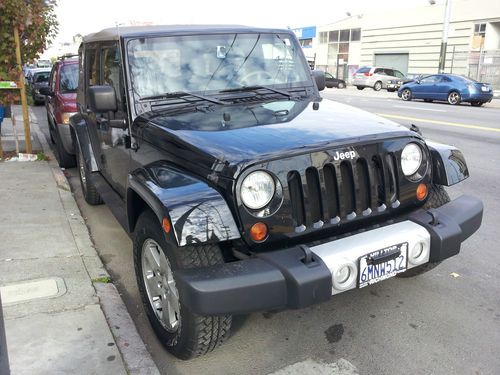
M296 231L325 223L367 217L399 206L396 157L346 159L288 173L288 191Z

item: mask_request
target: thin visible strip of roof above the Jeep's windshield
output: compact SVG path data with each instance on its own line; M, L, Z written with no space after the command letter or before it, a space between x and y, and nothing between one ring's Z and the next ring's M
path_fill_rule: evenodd
M119 38L133 38L141 36L158 35L187 35L187 34L211 34L227 32L292 32L284 29L266 29L242 25L155 25L155 26L127 26L111 27L97 33L86 35L84 43L99 42L106 40L118 40Z

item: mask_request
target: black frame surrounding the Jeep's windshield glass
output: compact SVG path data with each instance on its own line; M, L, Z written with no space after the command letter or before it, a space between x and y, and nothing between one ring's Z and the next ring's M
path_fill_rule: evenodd
M199 31L194 32L194 33L164 33L164 34L152 34L152 35L147 35L147 36L134 36L134 37L127 37L122 39L122 48L123 48L123 55L124 55L124 61L125 61L125 73L126 73L126 81L127 81L127 92L129 95L129 99L131 103L134 105L131 106L133 109L133 112L135 112L136 115L140 115L141 113L144 113L147 111L149 105L144 103L145 101L154 101L152 100L141 100L141 97L139 94L135 91L134 89L134 77L132 76L131 73L131 61L129 59L129 43L141 39L154 39L154 38L168 38L168 37L196 37L196 36L237 36L237 35L259 35L259 34L269 34L269 35L280 35L281 37L286 37L290 40L290 43L292 43L292 47L294 49L295 53L295 59L296 63L300 64L298 69L303 69L303 72L305 73L304 78L305 80L303 81L297 81L293 83L288 83L288 84L270 84L268 85L269 87L275 88L275 89L291 89L291 88L308 88L308 89L313 89L314 91L316 90L316 86L313 82L313 78L311 75L311 69L309 65L306 62L306 58L304 55L304 52L302 48L300 47L300 44L297 41L297 38L294 33L289 32L288 30L228 30L228 31L214 31L214 32L204 32L200 33ZM242 86L243 87L243 86ZM215 89L215 90L192 90L188 91L188 93L195 93L195 94L201 94L205 96L210 96L210 97L217 97L223 94L224 91L223 89ZM316 93L317 96L319 96L319 93ZM186 105L187 103L184 103ZM139 109L138 109L139 107ZM135 116L134 116L135 117Z

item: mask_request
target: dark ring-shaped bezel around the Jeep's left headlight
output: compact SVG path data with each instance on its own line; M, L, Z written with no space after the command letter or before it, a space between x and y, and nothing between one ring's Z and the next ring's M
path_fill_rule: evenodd
M274 184L274 192L264 205L252 207L251 205L248 205L248 202L245 202L242 190L243 184L246 179L254 173L265 173L267 176L269 176ZM266 218L272 216L276 213L276 211L278 211L278 209L281 207L281 204L283 203L283 187L281 185L281 182L273 173L265 169L253 169L248 171L247 173L244 173L244 175L242 175L240 178L240 182L236 186L236 191L238 192L238 201L240 202L241 206L249 214L257 218Z

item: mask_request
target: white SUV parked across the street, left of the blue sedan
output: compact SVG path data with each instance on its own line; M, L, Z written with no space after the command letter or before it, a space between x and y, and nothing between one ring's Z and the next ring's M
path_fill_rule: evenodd
M381 89L395 91L394 86L388 87L388 82L391 81L392 85L394 81L397 82L405 79L405 75L396 69L379 66L363 66L354 73L352 84L356 86L358 90L363 90L365 87L371 87L375 91L380 91Z

